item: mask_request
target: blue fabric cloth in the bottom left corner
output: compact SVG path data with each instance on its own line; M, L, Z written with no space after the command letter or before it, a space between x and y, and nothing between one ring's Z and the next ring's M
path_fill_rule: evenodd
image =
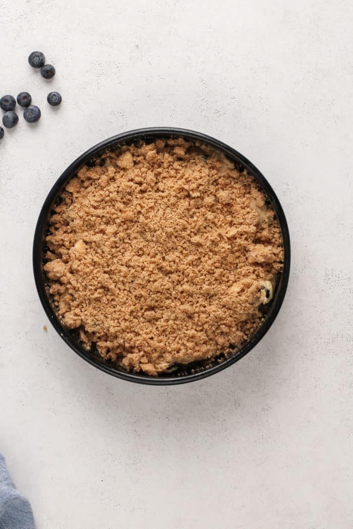
M28 499L16 490L0 454L0 529L35 529Z

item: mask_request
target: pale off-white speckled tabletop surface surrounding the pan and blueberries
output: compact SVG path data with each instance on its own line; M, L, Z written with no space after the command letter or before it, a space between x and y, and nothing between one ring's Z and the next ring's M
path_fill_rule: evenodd
M29 90L42 109L35 126L20 111L0 143L0 451L38 528L353 527L351 2L0 0L0 17L0 91ZM36 49L52 81L29 67ZM254 162L293 251L256 349L164 388L67 348L31 265L61 172L153 125L211 134Z

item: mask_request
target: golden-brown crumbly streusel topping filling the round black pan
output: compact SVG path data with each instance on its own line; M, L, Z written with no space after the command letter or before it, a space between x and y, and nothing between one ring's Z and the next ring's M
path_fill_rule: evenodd
M67 184L44 270L62 322L87 349L148 375L239 347L282 268L257 182L200 142L106 152Z

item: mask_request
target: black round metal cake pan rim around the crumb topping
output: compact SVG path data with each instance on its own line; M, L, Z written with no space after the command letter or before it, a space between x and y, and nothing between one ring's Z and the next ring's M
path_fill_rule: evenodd
M284 261L283 269L280 272L276 285L274 297L266 305L264 321L258 327L256 332L250 336L250 338L245 343L243 343L239 349L234 350L234 353L230 357L224 358L221 355L212 361L206 361L202 363L197 362L195 364L186 364L184 366L180 366L176 371L171 373L171 375L152 377L124 371L120 367L117 367L113 363L107 362L102 357L100 357L94 348L92 351L87 351L80 342L78 333L76 331L67 329L67 327L62 323L51 300L48 280L43 270L45 263L44 254L46 251L45 240L48 233L49 217L51 215L52 208L60 196L62 189L66 186L70 178L73 178L77 174L77 171L82 166L92 165L95 159L99 157L104 151L114 149L121 144L129 144L133 141L141 139L151 142L157 138L180 137L187 140L201 140L204 143L212 145L214 148L223 152L230 160L232 160L240 171L246 169L248 174L258 181L260 186L265 191L267 198L270 201L271 207L276 213L280 229L282 230ZM39 214L37 226L35 227L33 242L33 271L35 285L37 286L39 298L43 305L44 311L61 338L81 358L92 364L92 366L95 366L105 373L108 373L108 375L113 375L114 377L129 380L131 382L139 382L140 384L154 385L182 384L183 382L192 382L210 375L214 375L214 373L217 373L240 360L245 354L254 348L254 346L261 340L261 338L263 338L270 326L273 324L280 306L282 305L288 284L290 260L291 246L289 242L289 232L282 206L280 205L274 190L271 188L268 181L260 173L260 171L249 160L242 156L242 154L219 140L215 140L214 138L211 138L210 136L200 132L174 129L170 127L152 127L149 129L138 129L125 132L123 134L118 134L113 136L113 138L108 138L107 140L98 143L98 145L95 145L95 147L92 147L92 149L89 149L79 156L77 160L71 163L71 165L62 173L62 175L58 178L56 183L49 191L49 194Z

